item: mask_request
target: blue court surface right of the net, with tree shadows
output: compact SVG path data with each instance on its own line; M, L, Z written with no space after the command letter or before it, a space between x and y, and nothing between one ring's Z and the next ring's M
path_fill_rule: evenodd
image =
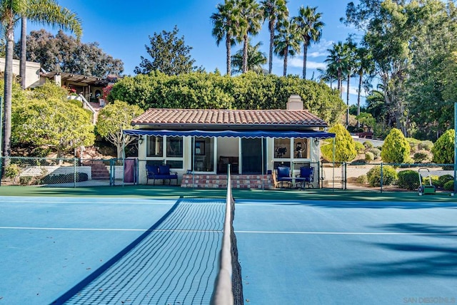
M457 304L457 205L238 200L245 304Z

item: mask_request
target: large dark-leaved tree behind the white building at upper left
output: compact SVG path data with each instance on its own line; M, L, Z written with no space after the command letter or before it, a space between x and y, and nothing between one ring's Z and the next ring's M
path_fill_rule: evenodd
M44 29L31 31L27 36L27 60L41 63L46 71L100 78L119 76L124 71L124 63L104 53L99 43L81 43L63 31L56 36Z

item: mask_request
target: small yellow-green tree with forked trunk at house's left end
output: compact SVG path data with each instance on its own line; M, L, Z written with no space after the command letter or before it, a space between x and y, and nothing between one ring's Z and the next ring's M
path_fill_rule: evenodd
M117 157L122 157L122 146L129 145L136 138L122 134L122 130L131 128L131 120L144 111L137 105L129 105L121 100L115 100L100 110L96 128L99 135L116 145ZM123 142L124 139L124 142Z

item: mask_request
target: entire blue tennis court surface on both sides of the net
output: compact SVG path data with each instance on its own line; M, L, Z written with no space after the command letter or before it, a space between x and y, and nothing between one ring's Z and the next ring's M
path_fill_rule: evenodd
M457 303L454 200L282 194L236 198L244 304ZM209 304L224 205L0 197L0 304Z

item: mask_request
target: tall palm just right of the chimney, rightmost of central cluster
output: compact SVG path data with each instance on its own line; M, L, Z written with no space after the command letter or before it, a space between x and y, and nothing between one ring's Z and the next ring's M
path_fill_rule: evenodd
M298 10L298 16L293 17L300 31L303 41L303 79L306 78L306 57L308 55L308 46L311 42L318 43L321 40L322 28L325 24L320 20L321 13L316 13L317 7L303 7Z

